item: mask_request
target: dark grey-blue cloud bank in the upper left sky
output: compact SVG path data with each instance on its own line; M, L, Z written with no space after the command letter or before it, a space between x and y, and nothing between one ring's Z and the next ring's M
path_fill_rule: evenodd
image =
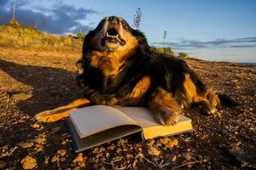
M35 26L41 31L48 31L54 34L65 34L69 32L77 33L88 31L92 28L82 24L88 19L90 14L97 14L97 11L87 8L76 8L72 5L58 1L58 4L49 0L36 0L27 3L25 0L18 1L16 8L16 18L24 26ZM47 3L48 6L38 4ZM12 3L7 0L0 1L0 24L6 24L13 16ZM82 22L83 21L83 22Z

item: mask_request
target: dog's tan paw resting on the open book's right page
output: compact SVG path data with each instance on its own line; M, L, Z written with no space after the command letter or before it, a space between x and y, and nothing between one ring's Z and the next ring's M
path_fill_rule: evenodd
M175 125L179 121L181 111L172 111L167 106L161 106L155 111L155 118L157 122L162 125Z

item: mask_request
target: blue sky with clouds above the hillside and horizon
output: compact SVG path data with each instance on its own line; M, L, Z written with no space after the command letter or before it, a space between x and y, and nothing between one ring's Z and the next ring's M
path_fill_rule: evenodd
M16 18L54 34L93 30L105 16L117 15L139 30L151 45L207 60L256 62L255 0L16 0ZM13 14L13 0L0 0L0 23ZM46 24L43 24L46 20ZM163 32L167 37L163 44Z

